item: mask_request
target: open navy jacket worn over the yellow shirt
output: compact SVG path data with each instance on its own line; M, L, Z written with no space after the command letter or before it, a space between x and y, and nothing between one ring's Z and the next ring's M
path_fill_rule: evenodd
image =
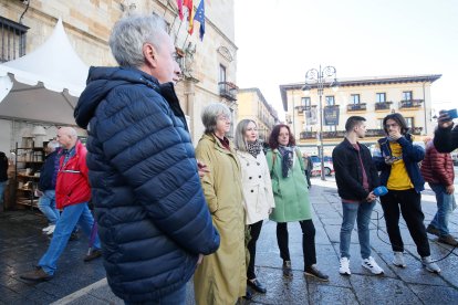
M400 137L397 143L403 148L403 161L406 166L407 175L410 178L415 190L420 192L425 189L425 180L423 179L418 162L425 158L425 149L420 146L413 145L409 134ZM373 159L377 166L377 170L382 171L381 183L386 186L392 171L392 166L385 164L385 158L383 156L392 156L392 149L389 148L388 138L379 139L378 145L381 146L382 156L374 157Z

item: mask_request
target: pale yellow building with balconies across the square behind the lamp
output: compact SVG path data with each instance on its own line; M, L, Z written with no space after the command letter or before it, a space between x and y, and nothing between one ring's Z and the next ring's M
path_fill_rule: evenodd
M345 122L352 115L366 118L366 138L371 146L384 136L383 118L391 113L400 113L416 140L433 135L431 84L441 75L376 76L339 78L335 91L331 82L324 84L322 109L316 84L309 94L305 83L280 85L287 122L291 126L298 145L305 151L318 155L320 145L320 120L323 119L323 152L326 156L345 136ZM339 117L336 124L325 124L323 112ZM331 116L331 118L333 118Z

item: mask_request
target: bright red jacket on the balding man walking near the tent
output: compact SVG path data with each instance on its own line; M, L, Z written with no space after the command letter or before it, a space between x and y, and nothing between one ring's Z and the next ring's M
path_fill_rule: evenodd
M79 140L75 154L64 165L65 154L59 159L58 182L55 185L55 202L58 209L87 202L91 199L91 186L86 166L87 150Z

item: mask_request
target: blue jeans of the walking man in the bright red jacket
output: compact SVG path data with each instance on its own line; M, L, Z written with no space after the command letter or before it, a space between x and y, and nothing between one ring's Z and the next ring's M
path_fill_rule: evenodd
M64 251L70 235L75 225L79 224L83 232L90 236L94 218L87 208L87 202L77 203L65 207L52 235L52 240L48 251L43 254L39 262L45 273L53 275L58 269L58 260ZM101 249L101 241L98 235L95 236L94 249Z

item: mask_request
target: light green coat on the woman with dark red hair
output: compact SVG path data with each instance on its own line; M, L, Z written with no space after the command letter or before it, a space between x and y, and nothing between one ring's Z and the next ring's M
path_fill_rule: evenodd
M272 170L273 158L275 159ZM293 167L288 178L281 173L281 155L278 149L268 150L266 155L272 178L272 191L275 208L270 219L275 222L292 222L312 219L309 189L304 175L302 158L294 152Z

